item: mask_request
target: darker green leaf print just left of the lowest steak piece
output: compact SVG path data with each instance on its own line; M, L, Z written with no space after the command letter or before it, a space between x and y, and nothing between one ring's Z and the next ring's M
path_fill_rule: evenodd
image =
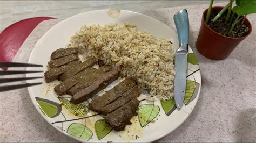
M97 120L95 123L95 131L100 140L112 131L112 127L107 125L105 120Z

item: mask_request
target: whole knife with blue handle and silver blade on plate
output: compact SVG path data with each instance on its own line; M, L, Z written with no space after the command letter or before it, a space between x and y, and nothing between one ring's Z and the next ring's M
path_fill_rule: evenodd
M176 106L181 109L186 90L187 49L189 37L189 23L187 10L178 11L174 17L179 38L179 49L175 53L174 99Z

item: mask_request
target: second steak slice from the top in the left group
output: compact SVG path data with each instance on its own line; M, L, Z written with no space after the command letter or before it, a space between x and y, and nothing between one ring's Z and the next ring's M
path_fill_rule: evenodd
M65 65L66 63L78 60L78 56L77 54L71 54L71 55L67 55L67 56L63 56L62 58L59 59L55 59L52 60L50 62L48 62L49 68L53 69L62 65Z

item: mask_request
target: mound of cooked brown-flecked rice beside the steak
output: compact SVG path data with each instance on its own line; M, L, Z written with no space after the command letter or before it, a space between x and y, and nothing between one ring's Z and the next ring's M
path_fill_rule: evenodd
M170 41L125 23L82 26L72 36L68 47L83 49L105 64L123 66L124 76L136 77L140 87L160 99L173 97L174 53Z

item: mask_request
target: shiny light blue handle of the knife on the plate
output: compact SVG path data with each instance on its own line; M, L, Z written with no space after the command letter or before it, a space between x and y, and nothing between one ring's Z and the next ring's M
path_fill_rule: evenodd
M185 48L184 46L188 45L188 39L190 34L187 10L184 9L178 11L174 15L173 19L178 32L179 47Z

